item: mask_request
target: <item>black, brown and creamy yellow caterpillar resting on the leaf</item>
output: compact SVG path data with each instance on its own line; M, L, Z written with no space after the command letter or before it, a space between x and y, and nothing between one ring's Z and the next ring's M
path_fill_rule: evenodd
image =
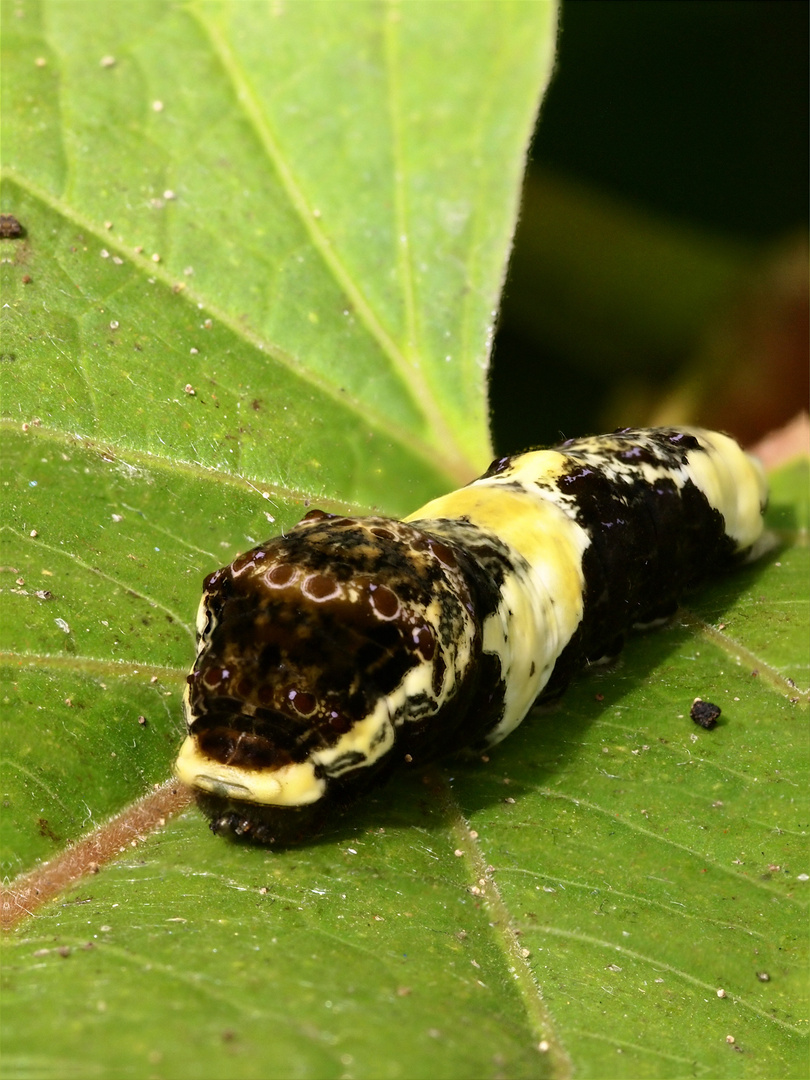
M403 762L500 742L762 532L728 435L499 458L403 521L310 511L205 578L177 777L211 828L306 839Z

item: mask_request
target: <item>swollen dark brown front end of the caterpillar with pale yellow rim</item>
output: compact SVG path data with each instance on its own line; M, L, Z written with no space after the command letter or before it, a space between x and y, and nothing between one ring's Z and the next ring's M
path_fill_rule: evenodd
M285 842L454 742L481 652L459 553L312 511L204 582L176 772L215 832Z

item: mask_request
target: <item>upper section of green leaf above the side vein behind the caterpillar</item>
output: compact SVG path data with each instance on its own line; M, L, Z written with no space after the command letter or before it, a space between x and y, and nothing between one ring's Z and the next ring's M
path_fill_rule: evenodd
M551 4L3 11L13 418L361 505L474 474Z

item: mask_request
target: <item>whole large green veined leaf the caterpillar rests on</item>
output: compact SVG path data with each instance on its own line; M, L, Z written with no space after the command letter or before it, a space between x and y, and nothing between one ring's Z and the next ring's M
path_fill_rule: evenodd
M168 775L204 573L485 463L553 22L3 8L5 874ZM6 935L4 1075L801 1075L806 487L774 480L766 561L488 762L297 850L195 810L121 835Z

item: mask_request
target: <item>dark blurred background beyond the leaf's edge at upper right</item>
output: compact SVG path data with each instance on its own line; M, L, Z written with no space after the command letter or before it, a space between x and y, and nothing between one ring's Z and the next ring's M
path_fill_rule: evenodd
M805 4L575 0L496 341L500 451L808 404Z

